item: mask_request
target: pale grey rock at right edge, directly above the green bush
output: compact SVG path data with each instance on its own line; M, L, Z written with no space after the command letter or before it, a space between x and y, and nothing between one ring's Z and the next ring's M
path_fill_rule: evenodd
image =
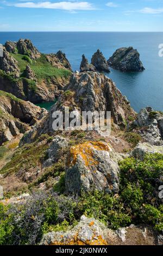
M134 156L138 159L143 159L145 154L154 154L159 153L163 154L163 147L162 146L155 146L149 143L139 143L136 148L131 152L131 156Z

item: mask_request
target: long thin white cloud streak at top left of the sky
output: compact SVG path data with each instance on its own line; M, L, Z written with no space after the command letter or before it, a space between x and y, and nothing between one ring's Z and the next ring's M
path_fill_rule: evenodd
M61 10L95 10L89 2L26 2L12 4L19 8L45 8L45 9L61 9Z

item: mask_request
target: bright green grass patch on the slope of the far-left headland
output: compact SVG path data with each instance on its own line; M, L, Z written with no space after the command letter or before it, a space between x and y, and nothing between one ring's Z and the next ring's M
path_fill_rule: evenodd
M11 54L18 62L18 67L20 68L20 71L23 72L26 69L27 64L30 66L30 68L35 72L35 75L37 79L46 79L49 78L68 78L71 75L71 71L66 69L57 69L54 68L46 59L45 55L41 55L41 57L37 60L33 60L32 62L29 62L29 58L24 58L24 55L21 54ZM31 60L31 59L30 59Z

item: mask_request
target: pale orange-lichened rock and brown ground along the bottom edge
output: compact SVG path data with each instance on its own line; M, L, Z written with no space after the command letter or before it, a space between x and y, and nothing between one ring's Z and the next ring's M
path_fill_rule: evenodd
M53 231L43 235L40 245L158 245L157 240L151 227L130 225L113 231L95 218L83 215L78 225L66 233Z

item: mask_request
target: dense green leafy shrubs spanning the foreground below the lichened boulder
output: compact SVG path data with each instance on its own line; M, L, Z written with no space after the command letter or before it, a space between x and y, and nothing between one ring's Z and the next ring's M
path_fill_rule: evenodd
M37 192L24 204L0 204L0 245L39 243L49 231L67 230L82 215L95 217L111 229L133 224L149 224L163 228L163 206L158 198L157 180L163 175L163 155L146 155L120 163L118 195L93 191L81 197L54 192ZM64 192L65 174L61 174L54 190Z

